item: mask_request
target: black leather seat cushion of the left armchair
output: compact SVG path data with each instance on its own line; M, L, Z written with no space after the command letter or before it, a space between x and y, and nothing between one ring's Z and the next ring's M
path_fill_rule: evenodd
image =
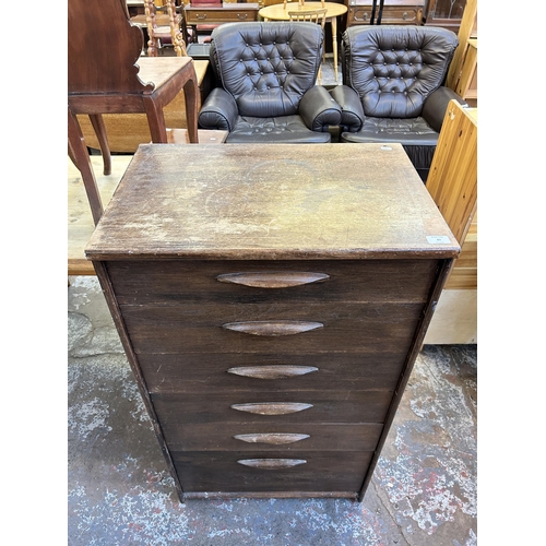
M297 115L275 118L239 116L226 142L313 144L328 143L331 138L329 132L317 132L308 129L304 120Z

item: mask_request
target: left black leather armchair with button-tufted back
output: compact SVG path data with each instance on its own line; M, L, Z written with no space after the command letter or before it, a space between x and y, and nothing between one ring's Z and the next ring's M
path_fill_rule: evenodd
M199 114L202 129L228 143L325 143L341 107L316 85L322 28L313 23L226 23L214 29L211 64L218 86Z

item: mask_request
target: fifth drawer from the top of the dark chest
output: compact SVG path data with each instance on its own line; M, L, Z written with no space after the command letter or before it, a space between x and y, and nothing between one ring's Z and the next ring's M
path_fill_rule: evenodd
M253 451L288 454L294 451L373 451L383 426L370 424L204 423L163 431L171 451Z

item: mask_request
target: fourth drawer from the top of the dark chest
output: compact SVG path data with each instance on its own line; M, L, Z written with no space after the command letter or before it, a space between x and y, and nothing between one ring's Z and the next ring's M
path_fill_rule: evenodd
M153 394L163 426L183 423L383 423L391 391L301 391L212 394ZM222 426L223 426L222 425ZM266 428L257 430L268 432Z

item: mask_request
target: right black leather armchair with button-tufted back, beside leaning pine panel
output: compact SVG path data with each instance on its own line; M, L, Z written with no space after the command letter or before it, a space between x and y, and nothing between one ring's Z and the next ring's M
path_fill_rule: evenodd
M430 26L352 26L342 37L341 142L400 142L424 181L448 103L459 38Z

